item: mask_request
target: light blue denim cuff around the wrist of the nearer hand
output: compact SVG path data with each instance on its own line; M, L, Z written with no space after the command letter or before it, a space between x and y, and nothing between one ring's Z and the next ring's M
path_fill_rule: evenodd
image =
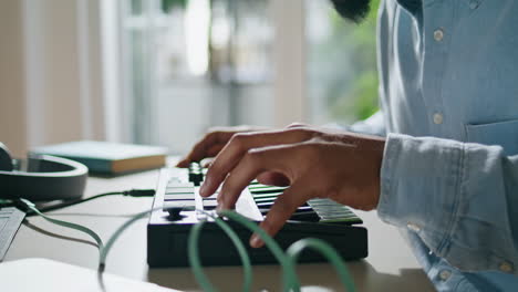
M442 254L459 205L463 144L388 134L383 157L380 218L417 232Z

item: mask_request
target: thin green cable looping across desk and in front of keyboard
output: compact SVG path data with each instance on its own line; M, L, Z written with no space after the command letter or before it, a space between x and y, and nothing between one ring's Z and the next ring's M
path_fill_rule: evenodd
M71 228L71 229L75 229L75 230L82 231L82 232L91 236L97 242L97 247L99 247L99 250L100 250L99 271L100 271L101 274L104 271L107 254L108 254L111 248L113 247L114 242L122 234L122 232L124 232L124 230L126 230L135 221L146 217L151 212L156 211L156 210L162 210L162 207L157 207L157 208L153 208L151 210L146 210L146 211L143 211L143 212L139 212L139 213L135 215L130 220L124 222L120 228L117 228L117 230L115 230L115 232L110 237L106 244L103 244L103 241L97 236L97 233L95 233L90 228L86 228L86 227L81 226L81 225L76 225L76 223L72 223L72 222L50 218L50 217L43 215L42 212L40 212L35 208L34 204L32 204L31 201L25 200L25 199L21 199L21 201L24 205L27 205L27 207L30 208L32 211L34 211L35 213L38 213L39 216L43 217L45 220L48 220L48 221L50 221L52 223L63 226L63 227L66 227L66 228ZM200 210L199 212L205 213L206 216L213 218L215 220L215 222L218 225L218 227L220 227L221 230L224 230L224 232L232 241L234 246L238 250L239 257L241 258L241 262L242 262L242 265L244 265L245 281L244 281L244 288L242 289L244 289L244 291L250 291L251 283L252 283L252 270L251 270L251 264L250 264L250 258L248 257L248 254L246 252L246 248L245 248L244 243L240 241L237 233L230 228L230 226L227 222L225 222L224 220L221 220L220 218L218 218L217 216L215 216L215 215L213 215L210 212L206 212L206 211L203 211L203 210ZM283 270L283 291L284 292L289 292L289 291L299 292L300 291L300 281L299 281L299 279L297 277L294 267L297 264L297 260L298 260L300 253L302 252L302 250L304 250L307 248L312 248L312 249L319 251L320 253L322 253L328 259L328 261L334 267L334 269L338 272L338 275L339 275L340 280L344 284L346 290L350 291L350 292L355 291L354 283L353 283L353 281L352 281L352 279L350 277L350 273L348 271L348 268L343 263L340 254L338 254L336 251L333 248L331 248L328 243L325 243L324 241L319 240L319 239L314 239L314 238L302 239L302 240L299 240L299 241L294 242L293 244L291 244L288 248L287 254L284 254L282 249L279 247L279 244L277 244L277 242L267 232L265 232L265 230L262 230L256 222L250 221L248 218L246 218L246 217L244 217L244 216L241 216L241 215L239 215L239 213L237 213L235 211L225 210L225 211L219 212L219 215L224 216L224 217L227 217L227 218L242 225L244 227L248 228L249 230L257 233L261 238L261 240L265 242L267 248L276 257L276 259L279 261L279 263L282 267L282 270ZM208 278L205 275L205 273L203 271L203 265L201 265L201 262L200 262L200 259L199 259L198 240L199 240L199 234L201 232L201 229L203 229L203 226L205 225L205 222L206 222L206 220L198 222L190 230L189 242L188 242L189 263L191 265L193 273L195 274L196 280L200 284L200 286L204 289L204 291L217 291L213 286L213 284L208 280Z

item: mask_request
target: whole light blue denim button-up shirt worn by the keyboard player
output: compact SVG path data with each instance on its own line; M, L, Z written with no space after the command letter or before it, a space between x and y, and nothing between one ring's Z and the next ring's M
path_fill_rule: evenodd
M518 291L518 1L385 0L377 38L380 217L437 290Z

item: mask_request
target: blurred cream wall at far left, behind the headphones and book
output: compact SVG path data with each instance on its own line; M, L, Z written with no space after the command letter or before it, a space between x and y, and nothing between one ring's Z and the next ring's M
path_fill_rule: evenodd
M99 1L0 1L0 140L104 138Z

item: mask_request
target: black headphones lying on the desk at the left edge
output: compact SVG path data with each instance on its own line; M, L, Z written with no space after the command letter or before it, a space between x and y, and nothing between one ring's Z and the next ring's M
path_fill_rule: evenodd
M0 143L0 198L31 201L70 200L83 196L89 169L70 159L29 155L12 159Z

